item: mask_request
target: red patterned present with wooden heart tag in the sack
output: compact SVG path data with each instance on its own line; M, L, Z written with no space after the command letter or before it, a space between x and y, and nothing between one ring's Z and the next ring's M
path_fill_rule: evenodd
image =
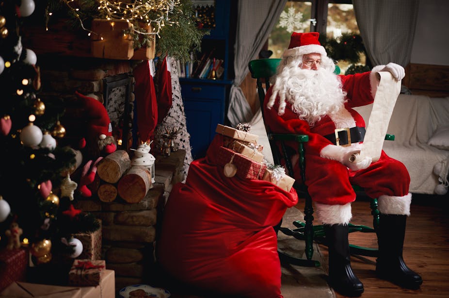
M265 164L223 146L218 149L217 160L226 177L237 175L241 179L260 179L267 168Z

